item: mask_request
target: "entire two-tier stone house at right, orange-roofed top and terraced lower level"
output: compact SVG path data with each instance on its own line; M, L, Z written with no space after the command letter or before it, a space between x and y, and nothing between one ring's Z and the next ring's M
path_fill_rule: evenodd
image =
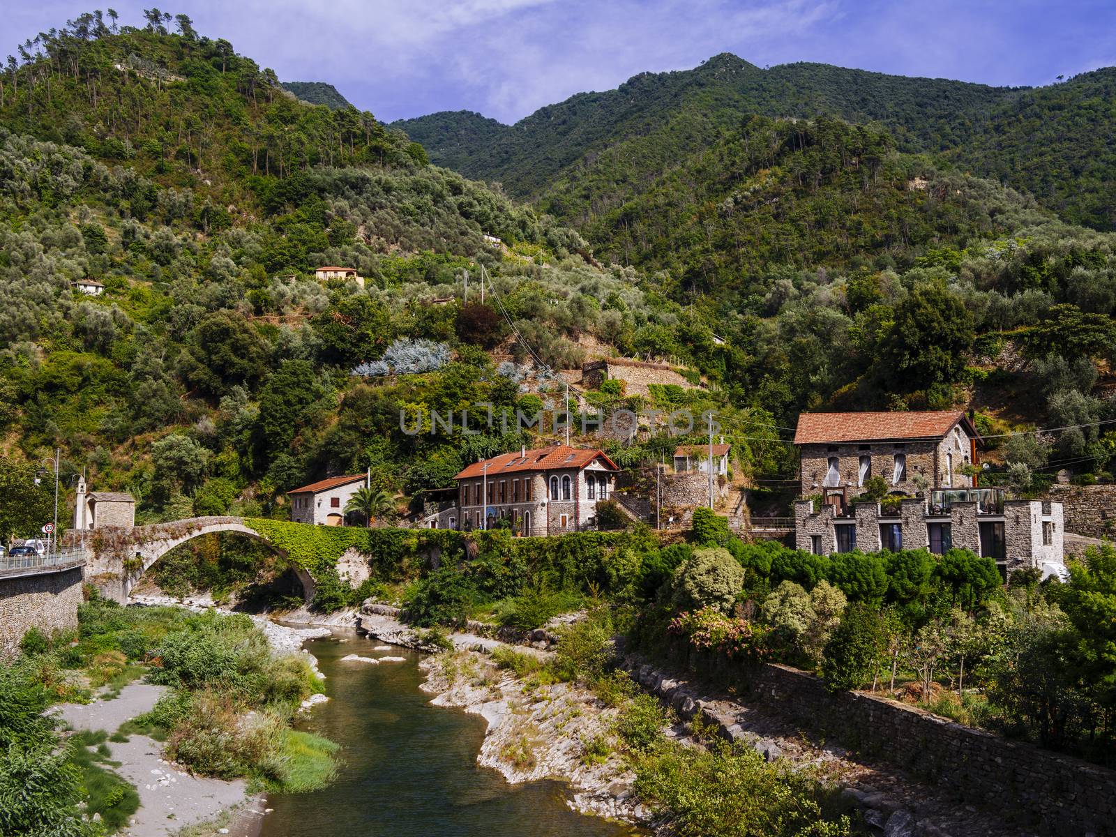
M798 549L942 555L958 547L992 558L1004 573L1061 573L1061 504L1008 500L1003 489L963 477L960 468L975 464L980 443L964 413L804 413L795 442L805 498L795 503ZM872 475L884 477L892 497L858 502Z

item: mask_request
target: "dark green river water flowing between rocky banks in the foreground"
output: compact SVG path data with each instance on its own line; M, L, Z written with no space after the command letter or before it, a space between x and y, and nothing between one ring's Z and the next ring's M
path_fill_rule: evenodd
M343 745L337 780L312 793L272 795L261 837L620 837L632 830L566 805L559 782L508 785L477 763L484 720L431 706L422 654L347 634L306 648L326 675L329 702L301 729ZM405 663L341 663L347 654Z

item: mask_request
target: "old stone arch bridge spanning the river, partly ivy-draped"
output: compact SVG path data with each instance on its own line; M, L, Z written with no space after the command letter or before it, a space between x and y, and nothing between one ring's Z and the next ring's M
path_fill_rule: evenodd
M105 527L86 532L71 531L68 537L75 541L74 546L84 537L87 556L85 580L97 587L102 595L123 604L140 577L155 561L189 540L214 532L243 535L267 543L283 558L289 557L283 549L248 526L243 518L233 517L187 518L132 528ZM295 561L289 561L289 565L301 581L302 596L309 604L316 591L314 578Z

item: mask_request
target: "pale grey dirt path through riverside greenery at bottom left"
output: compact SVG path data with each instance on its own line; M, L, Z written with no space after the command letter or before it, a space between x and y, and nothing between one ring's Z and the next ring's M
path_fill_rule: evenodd
M89 704L66 703L57 714L75 730L104 730L112 734L121 724L150 711L165 686L129 683L118 698ZM135 786L140 810L119 831L126 837L169 837L185 826L215 818L222 810L246 799L242 779L222 781L190 776L163 760L163 744L146 735L126 742L106 742L115 772Z

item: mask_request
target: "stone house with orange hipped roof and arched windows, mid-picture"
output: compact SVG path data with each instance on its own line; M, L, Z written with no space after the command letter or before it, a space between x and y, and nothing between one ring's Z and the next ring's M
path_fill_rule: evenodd
M450 529L492 528L506 518L516 535L545 536L591 529L619 468L600 450L554 444L474 462L454 479L456 517Z

